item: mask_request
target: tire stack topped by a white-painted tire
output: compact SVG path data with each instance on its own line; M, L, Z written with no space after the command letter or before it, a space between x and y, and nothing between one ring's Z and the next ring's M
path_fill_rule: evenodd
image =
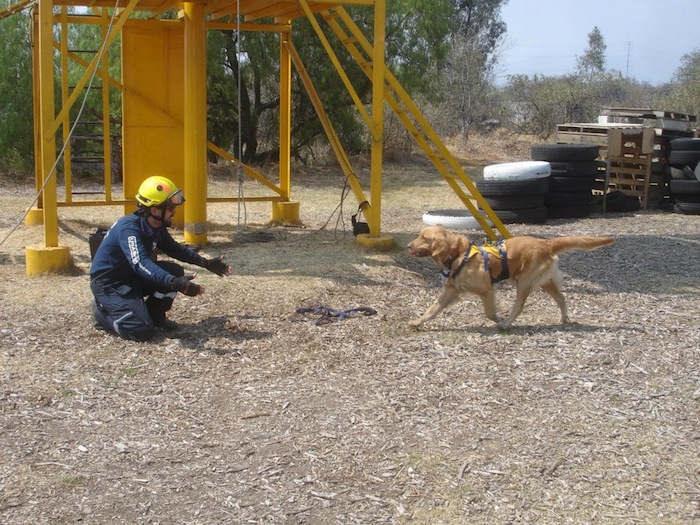
M549 162L524 161L492 164L476 189L504 224L542 224L547 220Z

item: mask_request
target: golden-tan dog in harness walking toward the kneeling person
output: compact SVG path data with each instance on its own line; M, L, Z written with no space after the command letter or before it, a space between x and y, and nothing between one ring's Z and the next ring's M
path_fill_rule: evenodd
M501 329L507 329L523 311L528 296L537 288L551 295L561 310L561 322L568 323L566 301L561 293L562 273L557 266L558 253L569 250L595 250L614 242L612 237L572 236L554 239L511 237L496 246L475 246L469 240L447 231L443 226L427 226L408 244L416 257L432 257L446 277L442 292L426 312L409 324L418 327L434 319L465 293L481 298L486 317ZM513 282L516 298L510 314L496 314L494 283Z

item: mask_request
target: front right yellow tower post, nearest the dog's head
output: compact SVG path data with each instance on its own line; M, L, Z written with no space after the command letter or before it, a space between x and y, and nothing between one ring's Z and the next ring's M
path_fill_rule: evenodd
M360 234L360 244L373 248L389 249L394 239L382 235L382 164L384 149L384 48L386 33L386 1L376 0L374 4L374 55L372 56L372 159L370 161L370 198L369 209L365 210L369 234Z

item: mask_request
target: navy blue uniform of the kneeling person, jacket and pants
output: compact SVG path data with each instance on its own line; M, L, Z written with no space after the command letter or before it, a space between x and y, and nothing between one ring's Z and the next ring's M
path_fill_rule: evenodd
M90 267L96 326L124 339L146 341L165 321L177 292L171 281L185 270L175 262L154 261L156 248L178 261L204 267L206 259L153 228L141 210L120 218L107 232ZM145 299L148 297L148 299Z

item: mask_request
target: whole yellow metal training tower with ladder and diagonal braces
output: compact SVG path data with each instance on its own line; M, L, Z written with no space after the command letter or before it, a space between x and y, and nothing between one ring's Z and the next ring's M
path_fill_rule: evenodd
M374 10L374 28L370 41L353 22L345 6L363 6ZM69 112L82 90L93 77L101 80L104 104L109 89L122 95L122 143L124 195L134 195L144 174L163 174L184 187L187 195L184 213L185 241L207 243L207 203L238 201L239 197L210 198L207 195L207 149L239 165L243 173L260 182L269 196L244 200L267 200L272 204L272 218L294 223L299 221L299 203L291 198L291 75L292 66L299 74L323 124L328 140L349 182L357 202L367 202L363 210L370 233L358 237L363 245L386 248L393 245L391 236L381 231L383 109L387 104L414 136L418 145L433 161L450 187L495 238L489 221L504 237L509 234L476 190L469 177L421 115L396 78L385 67L384 26L386 0L22 0L0 17L29 6L33 8L35 42L35 137L37 189L41 199L30 210L28 223L44 224L45 245L27 248L27 273L30 275L64 268L71 264L67 248L59 245L58 208L61 206L123 205L132 209L132 199L112 198L107 162L111 152L109 107L104 108L103 144L105 147L104 199L75 201L71 198L70 148L64 153L65 197L57 198L53 172L57 163L56 134L66 142L70 128ZM69 9L76 8L76 9ZM141 12L147 15L135 17ZM161 18L176 12L172 19ZM314 27L319 41L337 69L357 110L365 120L371 136L371 170L369 198L355 177L348 156L326 115L321 100L292 41L295 19L305 17ZM236 20L235 23L224 20ZM262 20L273 20L265 23ZM372 82L369 111L355 93L348 76L328 42L321 22L325 22ZM94 24L101 28L103 46L92 60L70 51L68 28L71 24ZM206 31L229 29L273 31L280 35L280 159L279 181L273 182L238 159L207 141L206 136ZM58 35L58 36L57 36ZM106 50L120 37L121 78L109 74ZM58 52L61 78L61 106L55 107L54 54ZM67 64L84 67L77 84L70 89ZM67 160L66 160L67 159ZM60 159L59 159L60 160ZM479 209L483 212L479 212Z

